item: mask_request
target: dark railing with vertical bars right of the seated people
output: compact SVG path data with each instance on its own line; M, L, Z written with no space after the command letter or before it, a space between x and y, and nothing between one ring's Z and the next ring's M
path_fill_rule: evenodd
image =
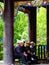
M46 59L47 58L47 46L46 45L36 45L36 55L38 59Z

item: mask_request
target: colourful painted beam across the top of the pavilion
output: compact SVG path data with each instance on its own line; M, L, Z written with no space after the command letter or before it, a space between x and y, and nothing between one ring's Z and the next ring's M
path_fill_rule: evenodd
M12 1L12 0L11 0ZM16 2L17 1L17 2ZM49 6L49 3L43 3L42 2L34 2L35 0L14 0L14 2L16 3L16 5L31 5L31 6ZM47 0L46 0L47 1ZM49 0L48 0L49 1ZM0 2L4 2L4 0L0 0Z

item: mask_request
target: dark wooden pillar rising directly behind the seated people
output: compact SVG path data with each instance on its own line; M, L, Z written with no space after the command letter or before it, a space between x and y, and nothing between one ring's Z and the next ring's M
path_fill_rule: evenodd
M29 42L36 43L36 7L31 7L29 11Z

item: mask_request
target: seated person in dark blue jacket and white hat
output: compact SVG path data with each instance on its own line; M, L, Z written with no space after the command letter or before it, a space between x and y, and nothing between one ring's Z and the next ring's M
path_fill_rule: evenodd
M27 54L25 53L25 46L24 46L24 41L19 41L18 45L14 49L14 54L15 57L21 58L22 59L22 65L26 65L26 57Z

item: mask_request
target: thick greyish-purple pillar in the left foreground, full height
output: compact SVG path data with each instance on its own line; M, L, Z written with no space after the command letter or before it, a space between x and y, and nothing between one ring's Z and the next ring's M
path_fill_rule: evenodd
M13 36L14 36L14 0L4 0L4 65L13 62Z

